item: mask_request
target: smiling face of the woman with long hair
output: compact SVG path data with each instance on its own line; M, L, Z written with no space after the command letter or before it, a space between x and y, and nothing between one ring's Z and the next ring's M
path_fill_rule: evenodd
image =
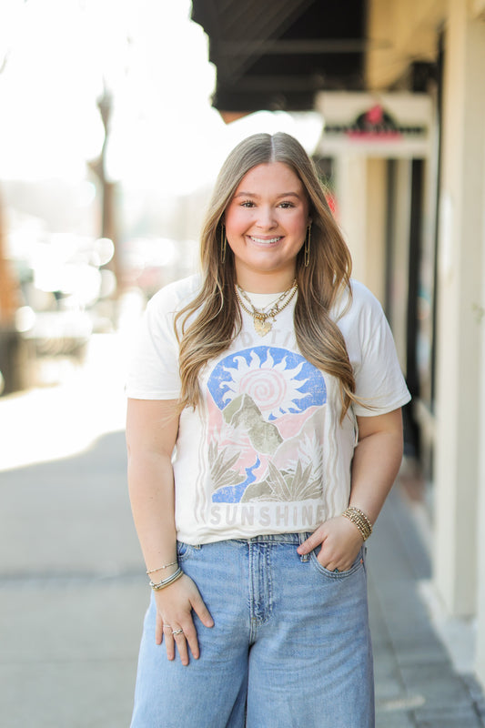
M225 214L239 286L253 293L289 288L309 222L307 194L290 167L271 162L250 169Z

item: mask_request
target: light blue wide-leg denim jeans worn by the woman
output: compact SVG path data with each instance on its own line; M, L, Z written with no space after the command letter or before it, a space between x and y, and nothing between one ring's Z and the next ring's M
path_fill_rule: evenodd
M373 728L364 550L349 571L299 556L308 534L178 544L214 619L194 619L199 660L184 667L144 624L132 728Z

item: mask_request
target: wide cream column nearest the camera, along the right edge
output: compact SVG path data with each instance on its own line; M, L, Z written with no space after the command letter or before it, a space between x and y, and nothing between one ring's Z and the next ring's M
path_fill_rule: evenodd
M450 0L440 208L435 583L452 615L477 605L485 24ZM483 530L483 529L482 529ZM483 544L482 544L483 545Z

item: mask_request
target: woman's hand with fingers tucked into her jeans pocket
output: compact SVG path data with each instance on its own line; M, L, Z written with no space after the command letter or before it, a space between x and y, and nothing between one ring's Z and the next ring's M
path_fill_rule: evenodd
M337 516L328 519L308 536L307 541L298 546L298 553L303 555L318 547L317 558L328 571L349 571L363 543L357 526L345 518Z

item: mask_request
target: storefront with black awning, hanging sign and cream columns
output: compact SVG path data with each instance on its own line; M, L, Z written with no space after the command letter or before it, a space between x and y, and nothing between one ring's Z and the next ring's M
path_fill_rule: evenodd
M193 5L223 116L321 113L316 153L355 275L386 309L413 394L432 586L443 614L473 625L485 685L485 0L288 0L259 25L237 23L240 4L221 4L218 25L217 2Z

